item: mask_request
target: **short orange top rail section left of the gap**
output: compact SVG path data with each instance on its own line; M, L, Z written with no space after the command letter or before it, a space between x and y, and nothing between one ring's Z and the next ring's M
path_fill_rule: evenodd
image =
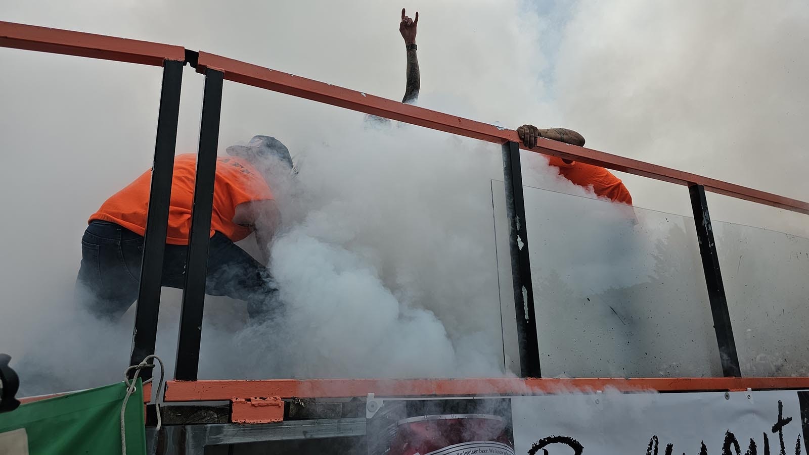
M0 47L127 61L141 65L161 66L164 60L185 61L185 48L182 46L2 21Z

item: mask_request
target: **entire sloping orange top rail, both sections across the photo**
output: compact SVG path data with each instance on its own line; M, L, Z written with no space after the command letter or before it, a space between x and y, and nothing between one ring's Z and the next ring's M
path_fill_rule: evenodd
M72 32L57 28L36 27L21 23L0 21L0 47L20 48L34 51L77 55L114 61L128 61L143 65L163 65L163 60L183 61L185 48L170 44L147 41L126 40L113 36ZM517 133L508 128L500 128L463 117L451 116L443 112L431 111L424 107L404 104L392 99L380 98L340 86L332 86L312 79L300 78L294 74L270 70L244 61L220 57L213 53L199 53L197 71L210 68L224 73L233 82L286 93L299 98L311 99L320 103L345 107L358 112L400 120L445 133L472 137L481 141L503 144L506 141L519 142ZM543 139L533 149L525 149L603 166L615 171L641 175L650 179L680 185L701 184L707 191L759 204L771 205L798 213L809 214L809 203L769 192L743 187L734 183L709 179L702 175L677 171L665 166L642 162L608 154L599 150L587 149L563 142Z

